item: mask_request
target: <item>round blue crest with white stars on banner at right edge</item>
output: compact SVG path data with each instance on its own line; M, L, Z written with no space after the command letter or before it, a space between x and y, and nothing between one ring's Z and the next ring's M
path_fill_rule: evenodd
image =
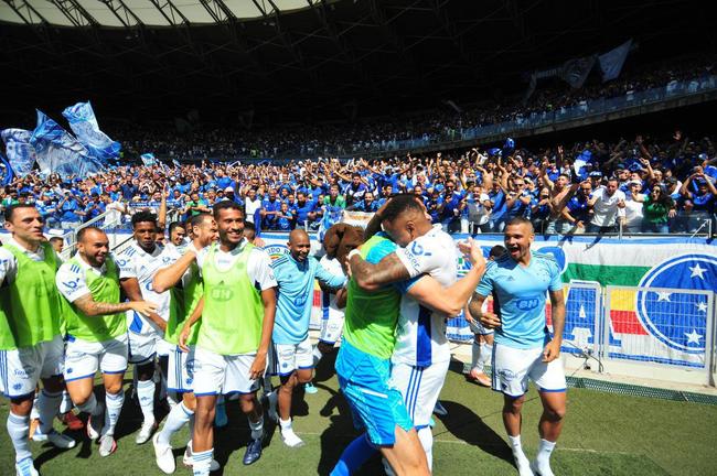
M670 258L648 271L640 286L654 289L635 294L638 318L648 332L673 349L703 354L710 303L707 295L688 291L717 289L717 256Z

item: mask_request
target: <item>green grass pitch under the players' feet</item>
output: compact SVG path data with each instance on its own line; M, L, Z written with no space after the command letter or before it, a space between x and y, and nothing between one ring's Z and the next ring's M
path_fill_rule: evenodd
M328 359L327 359L328 360ZM306 442L301 448L286 447L278 429L267 424L267 446L261 458L244 466L242 457L249 431L237 402L227 403L229 424L215 432L215 458L223 475L327 475L344 446L356 435L343 398L338 392L331 361L318 371L317 394L298 396L293 403L296 432ZM502 399L489 389L465 381L462 365L451 366L441 401L449 414L436 418L434 474L515 475L501 420ZM11 443L4 430L8 402L0 403L0 475L13 475ZM523 410L523 445L528 457L537 447L536 424L541 402L532 389ZM135 402L125 402L117 429L118 450L101 458L84 433L78 445L58 451L31 443L35 465L44 476L161 475L154 465L151 442L138 446L133 433L141 423ZM62 424L55 421L55 428ZM173 439L178 468L190 475L181 456L188 440L184 429ZM717 407L627 397L588 389L568 390L568 414L563 436L553 455L556 475L715 475ZM383 474L377 457L361 475Z

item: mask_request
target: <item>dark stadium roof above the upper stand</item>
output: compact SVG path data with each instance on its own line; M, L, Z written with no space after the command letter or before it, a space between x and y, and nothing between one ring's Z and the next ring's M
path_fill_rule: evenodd
M12 91L0 115L90 99L100 117L197 109L236 121L256 110L279 121L500 97L525 88L527 72L629 37L645 61L714 50L706 4L0 0L0 71Z

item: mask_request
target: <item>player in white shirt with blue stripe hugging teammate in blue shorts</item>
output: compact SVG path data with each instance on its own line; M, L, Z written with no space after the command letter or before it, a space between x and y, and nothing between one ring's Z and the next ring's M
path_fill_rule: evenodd
M430 419L450 364L446 321L465 305L471 293L464 291L478 284L485 261L482 251L477 252L471 257L474 266L458 281L456 242L440 225L431 225L414 195L392 198L372 221L367 232L381 225L395 242L394 251L377 264L352 256L351 271L364 290L397 283L403 295L390 379L404 396L430 468Z

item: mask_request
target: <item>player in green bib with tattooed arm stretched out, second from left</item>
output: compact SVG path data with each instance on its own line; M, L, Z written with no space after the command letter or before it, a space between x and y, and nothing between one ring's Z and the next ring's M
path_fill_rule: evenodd
M109 257L107 235L96 227L77 232L77 255L60 267L55 281L68 304L64 370L67 391L75 405L89 414L87 435L93 441L99 439L100 456L109 456L117 450L115 426L125 401L125 313L131 310L147 315L156 312L157 305L120 302L119 270ZM97 370L103 372L104 404L93 392Z

